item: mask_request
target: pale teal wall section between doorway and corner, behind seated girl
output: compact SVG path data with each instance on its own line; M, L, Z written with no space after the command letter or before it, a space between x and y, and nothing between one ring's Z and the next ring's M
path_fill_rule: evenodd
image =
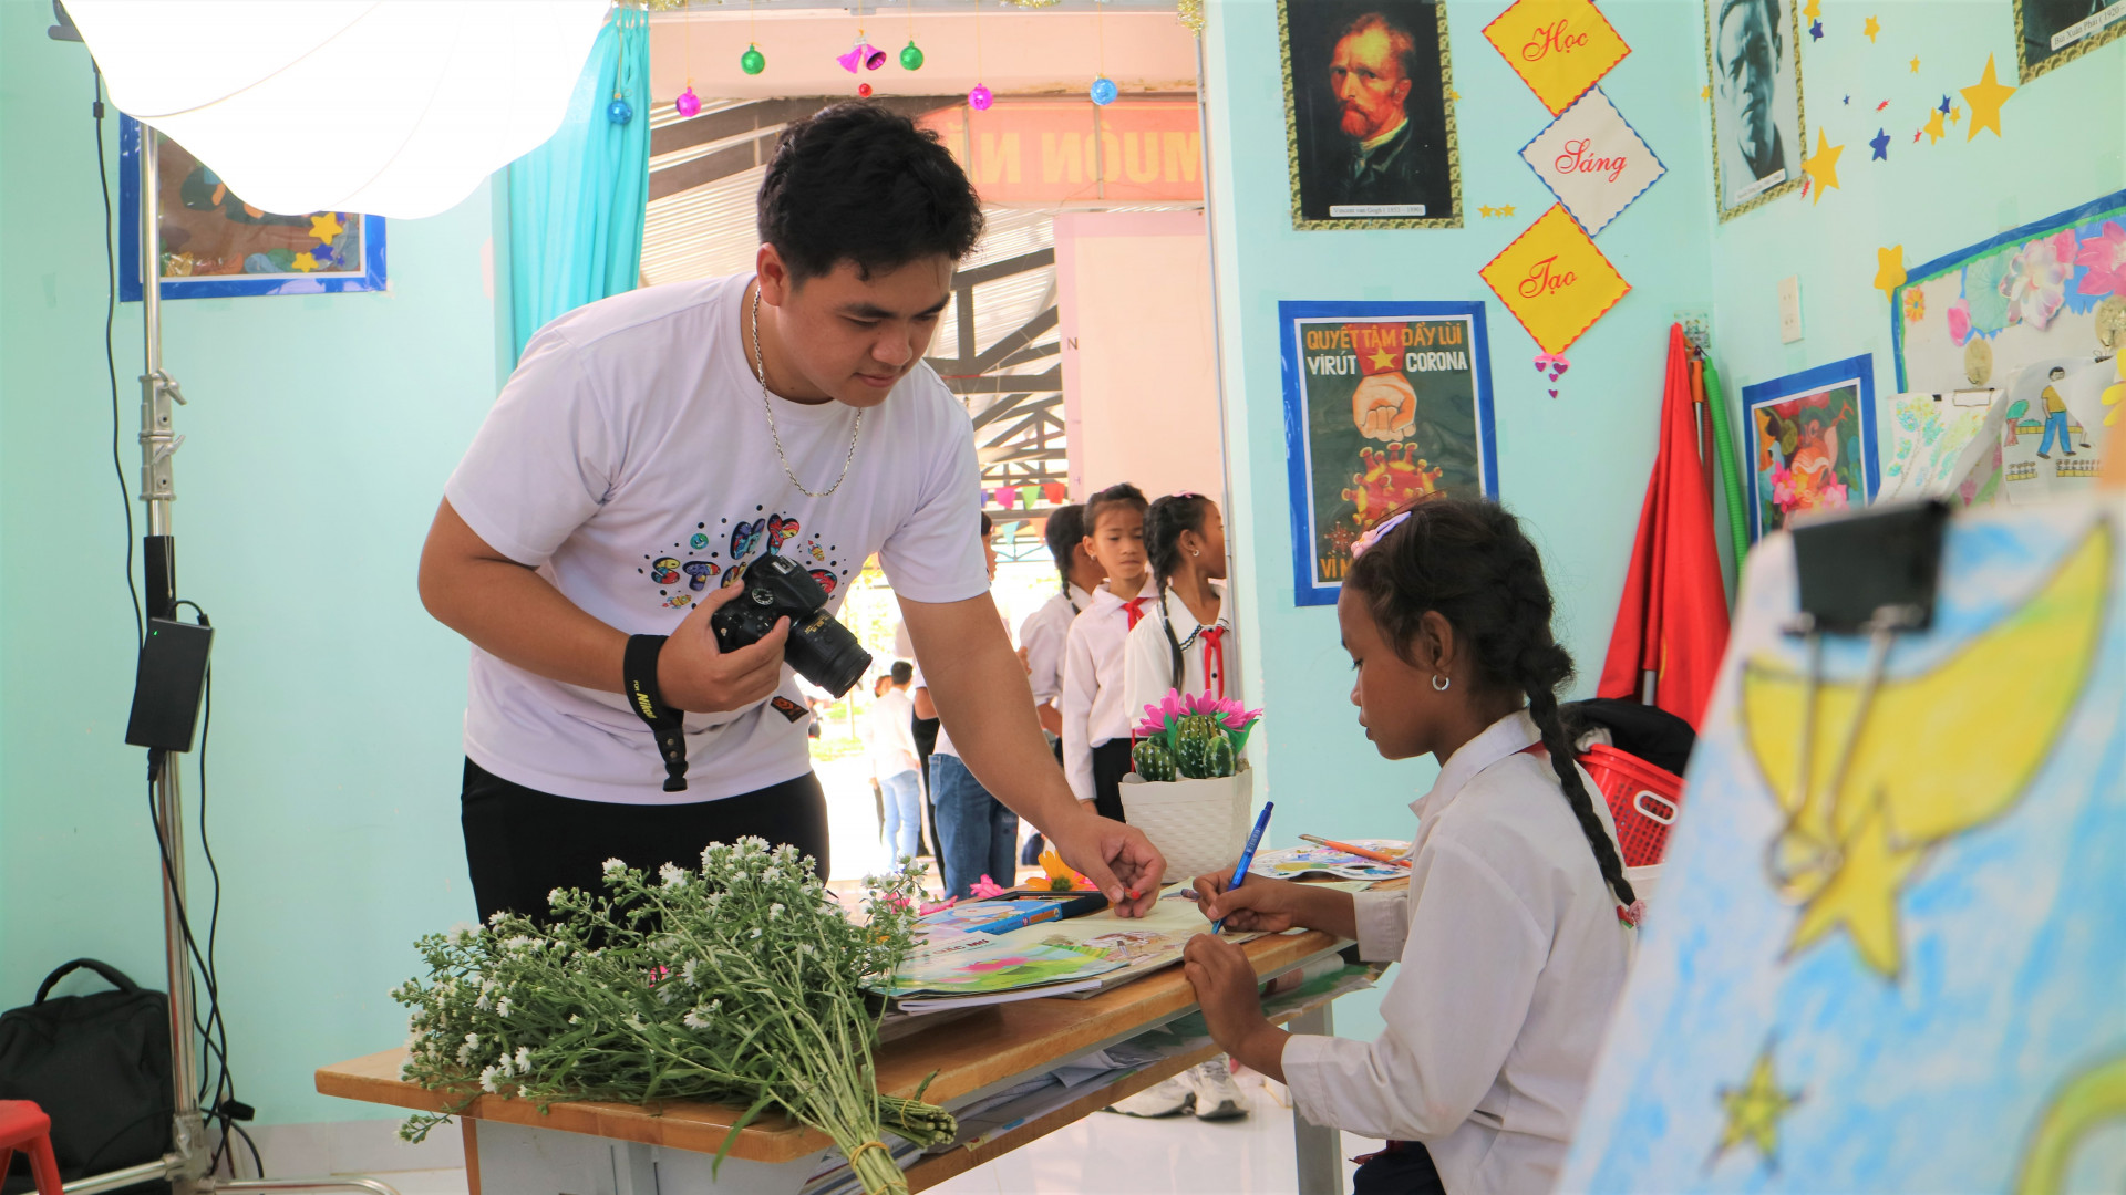
M1448 4L1461 142L1461 230L1293 232L1284 157L1278 9L1220 0L1205 32L1212 219L1218 319L1229 402L1227 453L1235 491L1235 587L1250 666L1265 693L1254 742L1273 836L1410 829L1403 808L1431 782L1431 761L1384 763L1348 702L1350 659L1335 610L1293 604L1290 500L1278 381L1278 300L1484 300L1490 327L1499 498L1543 551L1560 600L1560 634L1592 695L1609 642L1624 559L1654 461L1667 330L1677 310L1707 310L1711 213L1707 142L1692 100L1703 47L1690 9L1612 2L1603 11L1633 53L1603 91L1669 174L1601 232L1597 245L1633 291L1569 349L1558 398L1533 368L1539 351L1478 270L1550 204L1520 147L1550 123L1535 94L1484 40L1501 4ZM1509 219L1480 204L1516 208Z

